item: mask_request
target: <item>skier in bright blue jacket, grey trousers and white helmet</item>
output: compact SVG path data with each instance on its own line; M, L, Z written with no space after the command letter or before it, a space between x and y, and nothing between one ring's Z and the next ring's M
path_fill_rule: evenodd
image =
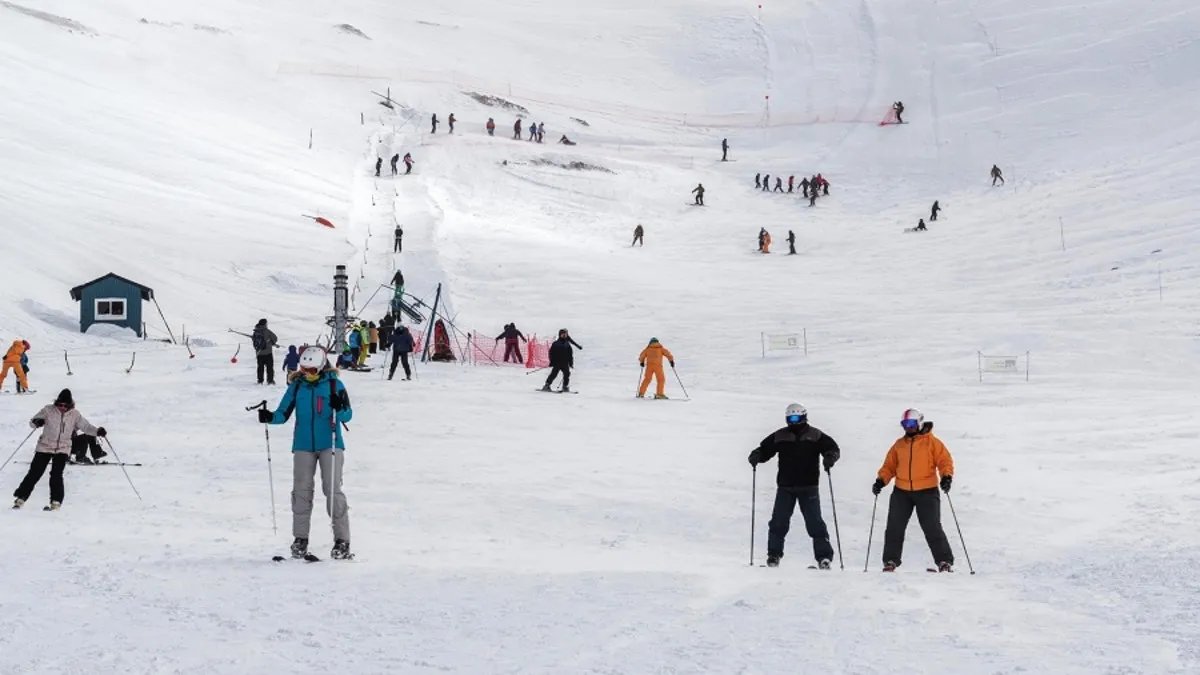
M346 444L342 425L354 417L350 396L329 368L325 350L310 346L300 354L300 371L288 383L287 392L274 411L259 410L258 422L286 424L295 413L292 440L292 557L308 555L308 530L312 525L313 476L320 465L320 489L326 512L334 521L334 548L329 556L349 560L350 518L342 492Z

